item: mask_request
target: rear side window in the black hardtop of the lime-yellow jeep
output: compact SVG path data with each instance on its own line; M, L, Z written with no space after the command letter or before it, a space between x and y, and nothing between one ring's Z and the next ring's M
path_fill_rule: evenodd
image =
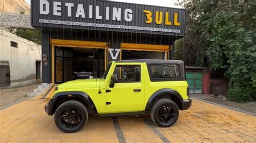
M180 67L178 64L151 64L150 72L153 78L180 77Z

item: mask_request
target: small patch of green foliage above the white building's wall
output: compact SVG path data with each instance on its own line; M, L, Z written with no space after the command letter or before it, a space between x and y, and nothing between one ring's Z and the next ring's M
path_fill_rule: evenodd
M26 28L17 28L15 32L19 37L25 38L36 44L41 45L41 33L38 30L26 29Z

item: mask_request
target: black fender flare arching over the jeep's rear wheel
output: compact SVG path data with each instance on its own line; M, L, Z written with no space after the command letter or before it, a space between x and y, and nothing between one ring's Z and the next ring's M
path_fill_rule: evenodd
M177 92L176 90L171 89L171 88L163 88L163 89L157 90L156 92L154 92L151 95L151 97L147 101L146 110L151 109L151 106L154 104L154 99L156 99L157 97L159 97L161 95L165 95L165 94L170 94L170 95L176 96L179 99L180 103L183 102L183 98L181 97L179 92Z

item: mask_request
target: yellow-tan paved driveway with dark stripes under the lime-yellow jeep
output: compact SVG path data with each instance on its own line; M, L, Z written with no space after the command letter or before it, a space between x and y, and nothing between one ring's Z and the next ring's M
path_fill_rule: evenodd
M63 133L31 98L0 111L0 142L256 142L256 117L193 100L175 125L159 128L148 116L89 117L77 133Z

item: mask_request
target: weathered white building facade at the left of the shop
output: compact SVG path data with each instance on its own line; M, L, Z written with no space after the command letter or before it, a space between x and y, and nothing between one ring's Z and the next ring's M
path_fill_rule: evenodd
M41 45L0 27L0 88L41 82L41 65Z

